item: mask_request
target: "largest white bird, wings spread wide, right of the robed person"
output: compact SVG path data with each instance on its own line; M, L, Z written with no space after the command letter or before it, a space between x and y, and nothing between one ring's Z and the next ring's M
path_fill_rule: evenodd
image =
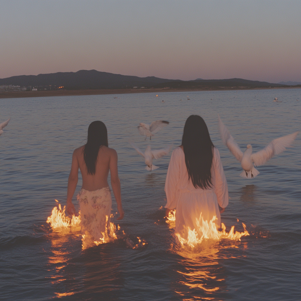
M259 171L254 166L263 165L275 155L282 153L286 147L289 147L299 134L295 132L280 138L272 140L264 149L252 154L252 145L247 144L247 149L244 153L240 150L234 138L229 133L226 126L222 123L219 117L219 131L223 143L228 147L234 157L241 162L241 167L244 171L240 174L242 178L254 178L259 174Z

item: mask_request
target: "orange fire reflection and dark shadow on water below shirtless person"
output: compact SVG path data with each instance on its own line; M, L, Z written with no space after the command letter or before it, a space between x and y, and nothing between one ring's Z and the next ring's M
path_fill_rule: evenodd
M51 248L48 255L50 282L54 298L72 296L74 300L95 299L108 296L115 300L123 285L119 259L112 256L112 244L80 250L80 232L66 235L50 233Z

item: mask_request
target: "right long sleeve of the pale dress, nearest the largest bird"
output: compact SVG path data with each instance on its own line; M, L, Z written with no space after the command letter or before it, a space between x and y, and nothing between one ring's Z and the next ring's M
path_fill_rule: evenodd
M229 203L228 185L225 177L224 169L219 156L219 150L214 147L213 154L213 189L217 196L219 206L225 208Z

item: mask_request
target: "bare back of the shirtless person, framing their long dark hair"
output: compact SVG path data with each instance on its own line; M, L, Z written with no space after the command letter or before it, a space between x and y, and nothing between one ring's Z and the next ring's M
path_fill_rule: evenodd
M113 167L112 161L114 161L115 157L117 157L116 151L104 145L101 146L98 151L95 174L91 175L88 174L88 169L84 160L84 147L85 145L74 151L80 172L82 173L82 188L89 191L95 191L108 187L109 184L107 178L110 167Z

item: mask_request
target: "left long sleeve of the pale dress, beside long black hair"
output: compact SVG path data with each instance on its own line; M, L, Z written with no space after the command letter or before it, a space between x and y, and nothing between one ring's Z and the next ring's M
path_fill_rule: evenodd
M167 203L165 205L165 208L168 209L175 209L178 203L178 187L177 184L180 179L180 155L179 152L181 149L175 149L172 152L167 175L166 175L166 181L165 181L165 193L167 198Z

